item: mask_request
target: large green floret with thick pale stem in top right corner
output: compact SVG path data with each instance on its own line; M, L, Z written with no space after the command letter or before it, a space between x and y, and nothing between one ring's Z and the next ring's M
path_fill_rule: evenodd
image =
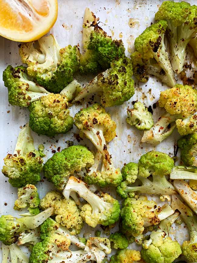
M165 1L155 14L155 20L166 20L171 47L171 63L176 73L182 71L186 46L197 32L197 6L187 2Z

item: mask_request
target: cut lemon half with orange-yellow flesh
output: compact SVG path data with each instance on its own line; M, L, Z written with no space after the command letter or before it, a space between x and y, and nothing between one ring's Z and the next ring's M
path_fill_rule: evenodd
M45 35L55 24L57 0L0 0L0 35L29 42Z

